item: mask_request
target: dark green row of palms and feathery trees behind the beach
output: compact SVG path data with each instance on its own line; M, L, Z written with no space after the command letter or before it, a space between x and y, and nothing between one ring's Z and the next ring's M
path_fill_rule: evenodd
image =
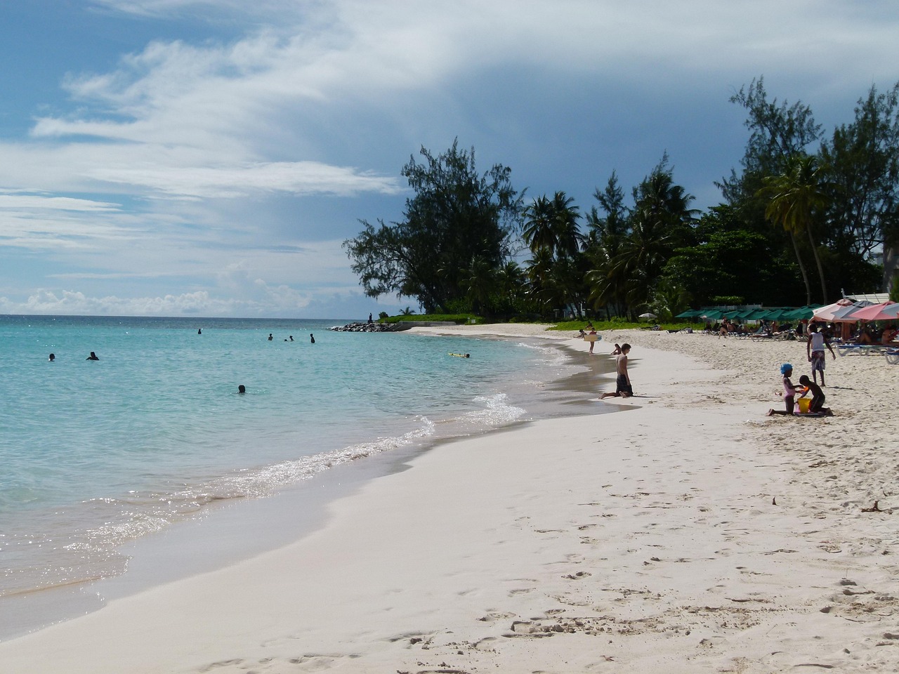
M474 148L457 139L403 167L414 194L400 221L360 220L343 242L352 270L369 297L507 318L825 304L843 288L899 294L899 83L872 86L828 137L806 104L770 100L761 77L731 102L746 111L749 137L705 212L691 208L667 155L629 200L612 172L582 211L565 191L526 202L510 168L477 173Z

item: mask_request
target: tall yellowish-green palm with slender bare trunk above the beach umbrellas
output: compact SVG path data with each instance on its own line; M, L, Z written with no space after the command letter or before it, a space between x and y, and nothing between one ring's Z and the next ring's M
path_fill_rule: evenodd
M756 193L757 196L769 199L768 206L765 208L765 217L771 223L783 226L789 233L793 250L796 252L799 262L799 270L802 271L802 278L806 282L808 304L812 303L812 289L808 283L808 275L802 263L802 257L799 255L799 246L796 241L796 236L803 231L808 235L814 263L818 268L822 300L827 301L824 270L812 234L815 213L823 210L828 204L828 196L824 191L823 171L816 164L814 156L794 155L788 159L783 173L765 177L762 180L764 186Z

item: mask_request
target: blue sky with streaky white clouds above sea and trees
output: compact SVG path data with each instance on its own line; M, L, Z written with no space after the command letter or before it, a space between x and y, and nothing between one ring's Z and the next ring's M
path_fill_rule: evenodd
M825 134L899 81L895 0L0 2L0 314L364 318L345 239L458 138L587 212L667 153L705 209L764 77Z

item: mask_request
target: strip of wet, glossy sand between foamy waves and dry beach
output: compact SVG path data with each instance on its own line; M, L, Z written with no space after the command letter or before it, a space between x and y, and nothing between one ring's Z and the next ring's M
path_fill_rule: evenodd
M529 335L522 337L528 338ZM557 343L558 336L553 337L552 348L562 352L563 347ZM571 353L566 355L566 359L568 362L560 367L567 374L550 377L545 386L541 386L553 393L547 397L535 391L528 396L527 417L558 416L563 413L563 405L567 408L565 413L573 413L569 399L581 396L573 392L566 382L572 377L571 370L581 366L574 364L576 358L573 359ZM521 395L521 391L518 393ZM535 404L536 409L530 409L531 403ZM506 422L508 426L485 426L476 434L504 430L521 422ZM461 428L456 432L461 432L462 437L470 435L470 431ZM361 484L370 480L405 470L410 457L452 439L455 436L425 437L411 442L407 447L392 448L362 460L331 466L324 472L284 486L263 498L223 501L197 516L174 522L161 531L121 545L117 554L128 559L125 572L95 581L78 581L0 598L0 643L103 610L112 601L152 590L157 585L214 572L289 545L324 526L331 501L355 492ZM291 512L299 512L300 515L289 515Z

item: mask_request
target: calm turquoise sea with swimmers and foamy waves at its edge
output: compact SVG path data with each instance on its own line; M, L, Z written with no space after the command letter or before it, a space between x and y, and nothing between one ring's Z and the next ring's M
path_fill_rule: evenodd
M217 501L528 418L564 364L343 323L0 316L0 597L121 573L120 545Z

